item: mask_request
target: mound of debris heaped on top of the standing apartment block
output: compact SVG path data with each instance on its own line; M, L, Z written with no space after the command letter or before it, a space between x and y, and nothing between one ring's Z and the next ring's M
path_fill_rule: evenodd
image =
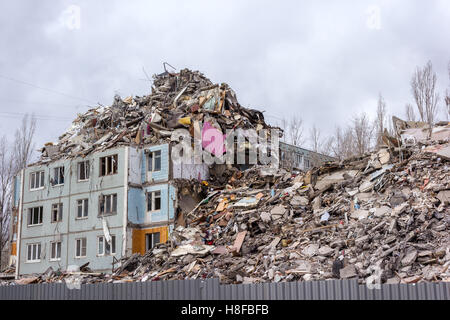
M242 107L226 84L213 84L198 71L164 72L153 76L151 94L114 97L111 106L99 106L78 115L56 143L42 148L40 163L86 156L119 145L170 142L175 130L192 136L201 123L226 129L269 128L262 112Z

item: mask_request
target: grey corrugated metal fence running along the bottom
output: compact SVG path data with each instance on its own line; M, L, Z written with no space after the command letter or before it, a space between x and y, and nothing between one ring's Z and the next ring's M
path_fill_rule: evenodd
M1 300L450 300L450 283L384 284L357 280L222 285L218 279L0 286Z

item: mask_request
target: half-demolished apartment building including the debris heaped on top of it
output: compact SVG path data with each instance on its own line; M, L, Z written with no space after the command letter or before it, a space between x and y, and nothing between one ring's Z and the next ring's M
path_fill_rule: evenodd
M86 263L111 272L121 258L166 242L179 213L201 200L202 185L192 191L195 182L183 181L210 176L205 163L173 161L181 134L270 128L228 85L199 72L165 72L153 84L148 96L115 96L111 106L80 114L16 177L17 275Z

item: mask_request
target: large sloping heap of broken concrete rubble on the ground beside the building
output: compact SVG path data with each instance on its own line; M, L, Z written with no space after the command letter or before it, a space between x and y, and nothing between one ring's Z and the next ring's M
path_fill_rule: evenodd
M297 176L241 172L190 212L169 243L132 256L115 276L449 281L448 159L404 151L411 156L403 161L382 149Z

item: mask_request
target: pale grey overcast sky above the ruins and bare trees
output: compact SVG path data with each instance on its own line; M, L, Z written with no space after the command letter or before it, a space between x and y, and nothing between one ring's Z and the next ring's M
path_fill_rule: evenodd
M161 73L164 61L228 83L272 124L298 114L332 134L358 112L374 116L379 92L403 117L428 60L443 96L449 39L448 0L5 0L0 136L34 113L37 147L57 141L88 105L149 93L142 69Z

